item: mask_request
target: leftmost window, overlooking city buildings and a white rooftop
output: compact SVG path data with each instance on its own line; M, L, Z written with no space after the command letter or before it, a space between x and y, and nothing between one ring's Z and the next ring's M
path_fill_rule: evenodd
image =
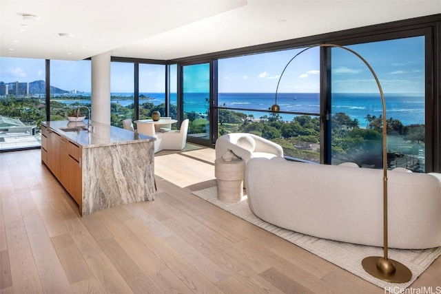
M45 60L0 57L0 150L39 147Z

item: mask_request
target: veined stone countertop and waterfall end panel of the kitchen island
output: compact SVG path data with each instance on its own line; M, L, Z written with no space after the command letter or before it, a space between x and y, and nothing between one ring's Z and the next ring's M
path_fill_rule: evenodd
M82 185L82 216L121 204L154 200L155 138L95 122L93 132L63 132L81 125L67 120L41 124L81 149L80 158L74 159L82 171L78 183Z

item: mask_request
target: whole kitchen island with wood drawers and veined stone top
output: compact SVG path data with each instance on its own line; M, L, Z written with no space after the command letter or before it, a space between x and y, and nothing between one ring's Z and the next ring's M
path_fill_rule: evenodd
M41 162L79 204L81 216L154 200L155 138L87 123L41 123Z

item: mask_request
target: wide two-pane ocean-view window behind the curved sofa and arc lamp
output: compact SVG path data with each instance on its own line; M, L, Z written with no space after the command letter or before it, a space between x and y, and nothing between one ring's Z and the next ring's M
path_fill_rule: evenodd
M382 84L389 168L425 170L424 43L424 35L412 32L347 45L371 63ZM300 54L305 48L219 59L218 136L249 132L278 143L290 158L382 168L382 100L369 68L347 50L320 57L320 46L311 46ZM273 103L280 112L267 111Z

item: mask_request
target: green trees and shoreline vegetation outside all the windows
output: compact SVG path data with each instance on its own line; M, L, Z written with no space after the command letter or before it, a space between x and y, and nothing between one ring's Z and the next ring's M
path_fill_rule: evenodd
M141 95L140 95L141 98ZM152 100L142 95L143 100ZM72 100L61 103L56 100ZM122 120L132 118L134 104L127 106L119 100L132 97L111 96L111 124L122 127ZM81 103L79 102L81 101ZM90 107L90 96L51 97L51 120L65 120L67 112L80 105ZM165 103L139 105L139 119L151 118L153 111L165 114ZM18 118L25 125L39 125L45 120L45 99L3 96L0 98L0 116ZM170 116L176 118L176 105L170 105ZM207 134L207 112L185 112L189 118L189 134ZM360 123L366 125L360 127ZM360 167L382 168L382 116L367 114L365 122L350 118L345 112L331 116L331 162L356 162ZM218 107L218 136L232 132L246 132L262 136L281 145L285 156L320 162L320 118L312 115L295 116L283 120L278 113L262 112L262 116L245 114L240 110ZM403 125L400 120L387 118L388 167L405 167L424 171L424 125Z

